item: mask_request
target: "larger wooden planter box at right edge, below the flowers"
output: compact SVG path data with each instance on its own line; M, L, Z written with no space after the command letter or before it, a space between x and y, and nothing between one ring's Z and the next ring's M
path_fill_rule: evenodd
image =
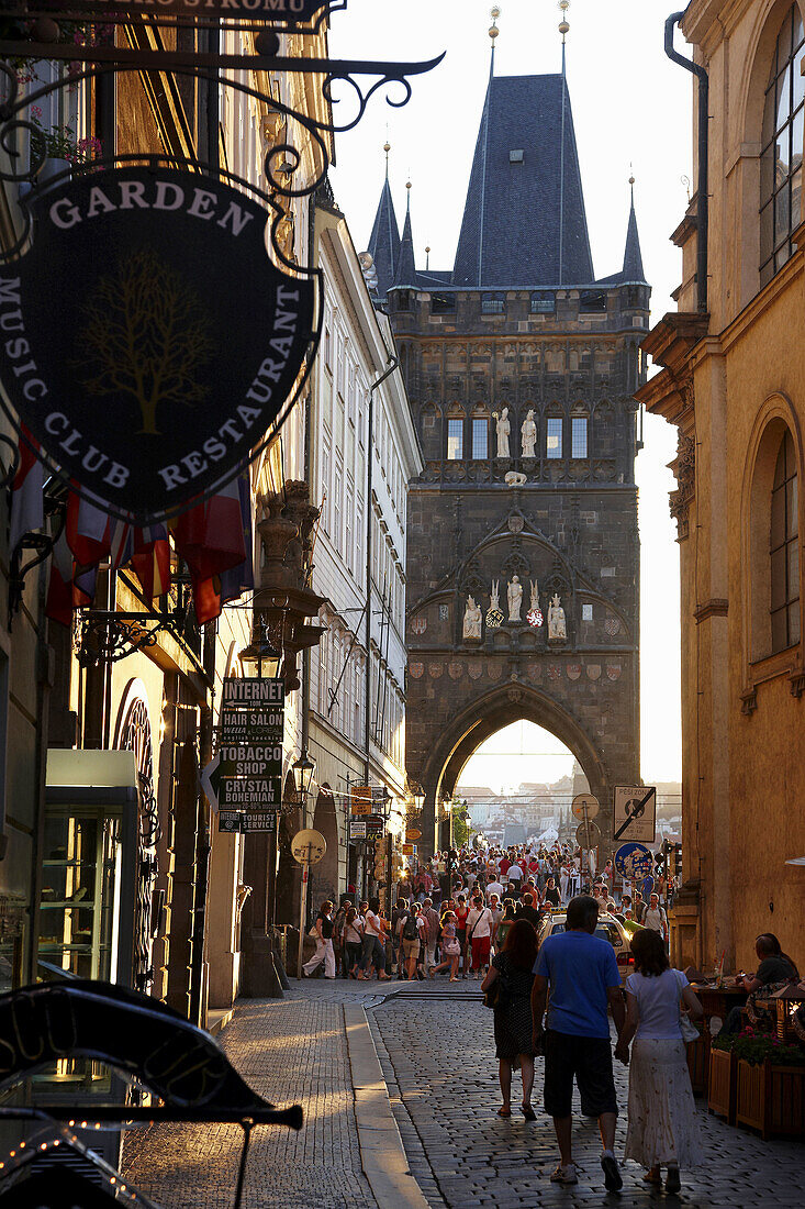
M736 1083L739 1124L758 1129L764 1141L772 1135L805 1139L805 1062L737 1058Z

